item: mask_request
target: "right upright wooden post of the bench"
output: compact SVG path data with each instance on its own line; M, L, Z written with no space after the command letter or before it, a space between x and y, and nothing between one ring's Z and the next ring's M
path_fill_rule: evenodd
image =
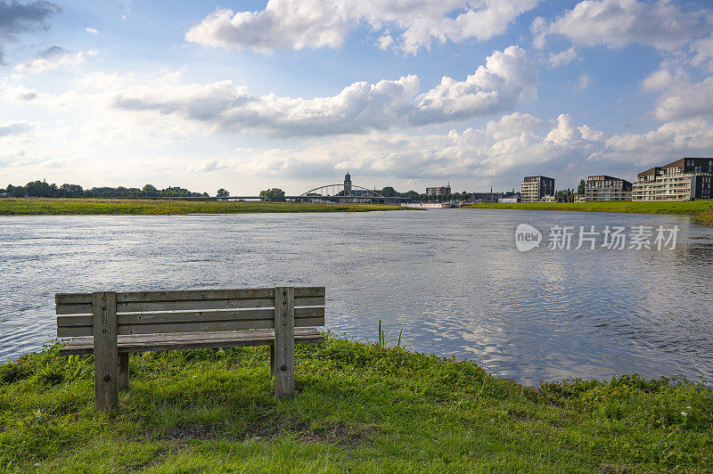
M295 395L295 289L275 287L275 396Z

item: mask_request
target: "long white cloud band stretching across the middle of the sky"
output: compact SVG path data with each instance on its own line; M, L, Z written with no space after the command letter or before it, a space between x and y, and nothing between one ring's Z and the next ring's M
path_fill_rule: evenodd
M183 85L176 75L151 86L117 88L114 107L154 111L233 132L269 135L339 135L415 127L488 116L537 97L537 68L518 46L488 56L463 81L442 78L419 94L416 76L356 82L339 94L314 99L258 96L231 81Z

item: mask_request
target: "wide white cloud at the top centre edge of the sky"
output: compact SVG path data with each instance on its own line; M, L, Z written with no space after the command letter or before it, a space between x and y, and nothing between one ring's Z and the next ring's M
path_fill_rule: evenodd
M434 42L487 40L540 0L269 0L265 10L217 9L185 35L186 41L259 52L339 47L352 29L366 24L383 33L376 45L406 53ZM389 31L390 30L390 31ZM389 32L387 32L389 31Z

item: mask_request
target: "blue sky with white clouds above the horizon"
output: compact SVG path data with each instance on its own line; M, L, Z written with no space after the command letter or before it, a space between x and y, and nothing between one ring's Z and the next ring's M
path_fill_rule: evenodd
M0 0L0 187L635 180L713 156L713 0Z

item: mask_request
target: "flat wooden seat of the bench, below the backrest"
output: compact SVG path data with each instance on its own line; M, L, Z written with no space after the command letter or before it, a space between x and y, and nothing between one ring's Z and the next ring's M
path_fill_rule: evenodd
M324 336L322 336L316 328L295 328L294 334L296 344L324 342ZM117 337L119 353L241 346L272 346L274 344L275 330L272 329L128 334ZM60 349L62 356L92 353L94 353L94 336L83 336L71 339L67 345Z

